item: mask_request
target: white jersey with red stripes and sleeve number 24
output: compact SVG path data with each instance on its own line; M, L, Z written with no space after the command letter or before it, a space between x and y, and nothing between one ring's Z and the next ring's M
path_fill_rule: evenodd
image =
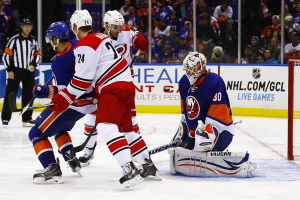
M107 35L88 34L78 41L74 55L75 74L67 89L76 98L92 87L101 94L107 85L132 81L126 59L118 54Z

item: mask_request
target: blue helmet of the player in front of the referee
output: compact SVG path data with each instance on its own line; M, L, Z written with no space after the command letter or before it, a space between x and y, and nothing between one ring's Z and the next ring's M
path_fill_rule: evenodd
M59 40L69 37L69 28L67 27L65 22L54 22L48 27L45 36L46 42L50 43L53 36L55 36Z

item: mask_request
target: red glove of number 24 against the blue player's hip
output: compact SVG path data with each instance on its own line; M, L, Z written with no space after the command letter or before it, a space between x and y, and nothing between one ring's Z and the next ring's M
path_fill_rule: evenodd
M49 107L51 111L63 112L67 110L69 105L75 101L76 96L69 93L67 88L62 89L58 94L54 95L51 103L54 103L55 106Z

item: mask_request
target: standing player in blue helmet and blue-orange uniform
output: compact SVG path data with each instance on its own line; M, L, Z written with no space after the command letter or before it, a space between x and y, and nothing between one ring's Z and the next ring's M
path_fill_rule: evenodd
M65 88L75 73L74 47L77 41L69 41L69 29L64 22L52 23L46 31L46 42L51 43L57 51L51 69L57 86L37 85L34 87L34 95L37 98L51 99L60 90ZM81 81L81 80L78 80ZM92 91L82 95L79 99L92 96ZM33 143L34 150L44 170L34 174L34 183L62 183L62 172L59 162L55 160L54 152L48 137L55 136L60 153L68 162L73 172L80 174L80 163L76 158L70 131L75 122L85 114L96 110L91 100L81 100L73 103L64 111L51 111L46 108L35 121L35 126L29 132L29 139Z

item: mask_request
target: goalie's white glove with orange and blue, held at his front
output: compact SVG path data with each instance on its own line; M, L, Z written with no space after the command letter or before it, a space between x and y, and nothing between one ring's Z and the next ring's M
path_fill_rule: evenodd
M194 151L211 151L217 141L218 129L211 124L204 125L201 120L198 121L198 127L195 132Z

